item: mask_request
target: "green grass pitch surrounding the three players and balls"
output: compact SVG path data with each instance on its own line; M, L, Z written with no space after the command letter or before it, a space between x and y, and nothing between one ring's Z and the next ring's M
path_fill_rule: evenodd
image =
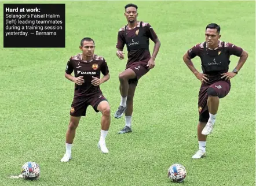
M92 37L96 53L108 61L111 79L101 89L113 116L120 102L118 74L125 69L125 61L115 56L116 36L126 24L123 6L130 2L65 2L65 49L2 49L0 185L175 185L167 169L176 162L188 172L184 185L255 184L255 2L132 2L139 7L138 19L152 25L162 46L155 69L138 84L133 133L118 135L125 120L113 117L107 155L97 149L101 115L90 107L77 129L72 161L60 162L74 94L64 72L68 58L79 53L80 40ZM182 55L203 42L212 22L221 25L222 40L243 47L249 58L221 99L207 157L192 160L198 150L200 81ZM231 61L233 69L238 58ZM193 62L200 69L199 58ZM41 165L39 181L8 178L27 161Z

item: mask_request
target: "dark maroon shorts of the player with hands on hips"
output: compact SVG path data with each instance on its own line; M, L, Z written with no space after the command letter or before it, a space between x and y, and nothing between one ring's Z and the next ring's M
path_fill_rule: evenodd
M228 95L229 91L231 90L231 84L228 81L217 81L210 85L201 85L198 95L198 111L200 122L207 122L209 120L209 110L207 106L207 91L209 87L215 90L218 98L224 98L226 95Z

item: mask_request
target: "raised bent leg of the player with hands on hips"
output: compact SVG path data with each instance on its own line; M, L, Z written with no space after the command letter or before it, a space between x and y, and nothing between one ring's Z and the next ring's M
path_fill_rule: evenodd
M218 81L212 85L207 90L207 106L209 109L209 120L207 121L206 127L204 127L202 134L209 135L213 131L215 124L218 106L220 104L220 98L224 98L228 95L230 90L230 84L226 81Z

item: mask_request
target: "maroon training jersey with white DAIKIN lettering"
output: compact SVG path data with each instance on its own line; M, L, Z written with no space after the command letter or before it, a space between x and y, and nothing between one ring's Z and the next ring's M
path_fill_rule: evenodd
M105 76L109 71L103 57L94 54L92 60L83 61L82 54L78 54L70 58L65 72L69 75L74 72L75 77L83 76L85 80L82 85L75 84L75 96L90 96L101 93L100 87L92 84L93 76L100 79L100 72Z

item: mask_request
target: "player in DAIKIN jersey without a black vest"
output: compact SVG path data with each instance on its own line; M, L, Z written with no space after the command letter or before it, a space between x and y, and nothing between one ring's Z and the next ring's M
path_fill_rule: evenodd
M71 147L75 137L75 130L79 120L86 116L86 109L89 105L96 112L101 112L101 133L98 148L103 153L108 153L105 145L105 138L110 125L110 108L106 98L100 90L100 84L109 79L108 65L103 57L94 54L94 40L83 38L81 40L81 54L70 58L65 70L65 77L75 83L74 99L70 110L70 124L66 133L66 152L61 162L68 162L71 159ZM74 72L74 76L71 73ZM100 74L103 77L100 78Z

